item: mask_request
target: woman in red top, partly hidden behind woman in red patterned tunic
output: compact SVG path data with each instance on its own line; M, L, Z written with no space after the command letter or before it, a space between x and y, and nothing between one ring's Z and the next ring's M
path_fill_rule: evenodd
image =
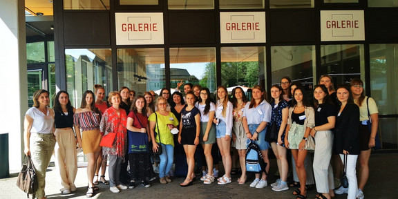
M99 111L101 111L102 114L106 111L106 108L108 108L108 104L104 101L105 97L105 88L102 87L99 84L94 85L95 88L95 97L97 99L95 100L95 108L98 108ZM102 148L101 151L99 151L99 154L102 154ZM94 184L99 184L99 182L102 182L102 184L108 185L109 182L105 180L105 172L106 172L106 162L108 161L107 158L102 158L102 155L98 156L97 160L97 167L95 167L95 179ZM100 181L98 181L98 173L99 169L101 169L101 176L99 178Z

